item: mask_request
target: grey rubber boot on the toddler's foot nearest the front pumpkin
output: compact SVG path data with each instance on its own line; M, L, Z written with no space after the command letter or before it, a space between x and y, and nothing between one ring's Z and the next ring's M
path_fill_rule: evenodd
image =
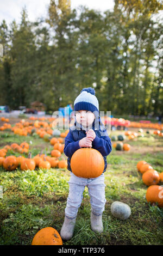
M70 240L73 236L74 225L76 224L76 218L68 218L65 216L64 224L60 230L60 235L64 240Z

